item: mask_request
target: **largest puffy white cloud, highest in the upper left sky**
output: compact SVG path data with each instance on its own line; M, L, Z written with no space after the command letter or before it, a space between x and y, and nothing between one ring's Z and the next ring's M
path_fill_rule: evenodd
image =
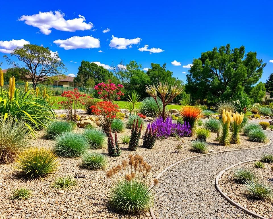
M27 25L38 27L46 35L51 33L51 28L59 31L75 32L90 30L94 27L91 22L86 23L85 17L82 15L78 15L79 18L71 20L65 20L64 16L65 14L61 11L39 11L38 14L34 15L22 15L18 20L24 21Z

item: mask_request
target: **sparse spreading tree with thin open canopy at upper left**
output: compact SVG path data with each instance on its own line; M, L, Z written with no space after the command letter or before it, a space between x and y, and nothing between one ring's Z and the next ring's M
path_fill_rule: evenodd
M24 66L18 64L17 60L13 60L12 57L16 57L17 60L24 63ZM28 70L26 74L30 76L34 89L41 78L66 72L65 65L58 54L43 46L25 44L22 48L15 48L11 53L11 58L8 56L4 58L13 68L20 69L22 73L25 73L25 69Z

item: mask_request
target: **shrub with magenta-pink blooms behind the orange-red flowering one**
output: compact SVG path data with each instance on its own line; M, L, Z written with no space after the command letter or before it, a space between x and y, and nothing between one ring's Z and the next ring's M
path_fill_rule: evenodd
M115 84L111 83L111 80L108 80L108 82L108 84L102 82L94 87L94 89L98 91L100 99L112 103L114 102L114 100L120 100L120 96L124 95L121 92L121 88L123 88L123 85L118 84L116 86Z

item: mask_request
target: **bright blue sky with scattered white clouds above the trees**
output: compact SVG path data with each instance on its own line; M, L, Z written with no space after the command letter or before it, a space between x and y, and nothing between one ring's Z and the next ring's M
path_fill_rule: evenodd
M9 66L2 57L28 41L57 51L67 74L76 75L81 60L106 67L136 60L143 68L151 62L167 63L173 76L186 81L183 72L189 68L183 66L201 52L229 43L231 48L244 45L246 52L257 51L257 57L267 63L261 81L273 73L273 1L30 0L12 4L1 3L5 8L0 13L3 69ZM76 20L67 21L72 19ZM107 28L110 31L103 33ZM181 65L172 65L174 60Z

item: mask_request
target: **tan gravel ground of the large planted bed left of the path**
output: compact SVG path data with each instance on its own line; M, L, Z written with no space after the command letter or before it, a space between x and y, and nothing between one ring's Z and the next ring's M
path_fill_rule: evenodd
M126 119L124 120L126 122ZM142 135L146 129L146 124L142 129ZM83 132L84 129L76 128L75 132ZM125 134L130 134L130 129L125 129L118 134L118 138ZM43 131L36 134L36 140L32 140L32 146L45 147L51 149L54 141L42 138ZM230 146L220 146L215 138L216 133L211 133L207 139L208 148L212 151L223 151L231 149L243 149L249 147L262 146L264 143L247 141L247 137L240 135L241 144L231 144ZM156 177L169 165L187 157L198 155L191 152L190 145L195 137L183 137L178 141L175 137L164 140L157 140L153 149L143 148L142 139L137 151L129 151L128 145L121 145L121 155L119 157L107 157L109 165L104 170L90 171L80 169L78 164L80 158L58 158L60 166L55 174L50 175L43 181L22 181L17 179L18 172L16 164L0 165L0 219L2 218L147 218L149 212L144 212L137 216L120 215L107 207L108 194L111 188L106 172L121 164L129 154L138 154L152 165L152 176ZM176 149L176 143L182 144L182 149ZM175 151L178 151L175 152ZM107 147L95 150L107 154ZM86 178L78 179L79 185L64 194L57 194L58 190L50 188L51 183L57 176L63 175L85 175ZM27 200L11 201L9 197L14 189L26 186L33 191L33 196ZM258 206L258 205L257 205Z

